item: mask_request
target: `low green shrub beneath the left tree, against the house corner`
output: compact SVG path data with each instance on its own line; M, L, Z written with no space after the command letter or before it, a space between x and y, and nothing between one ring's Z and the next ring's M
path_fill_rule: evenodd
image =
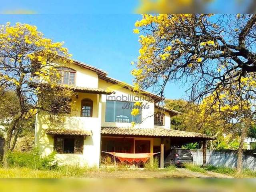
M55 153L51 153L49 156L40 157L37 148L34 148L30 152L12 152L8 154L8 165L10 167L18 166L51 170L58 166L54 155Z

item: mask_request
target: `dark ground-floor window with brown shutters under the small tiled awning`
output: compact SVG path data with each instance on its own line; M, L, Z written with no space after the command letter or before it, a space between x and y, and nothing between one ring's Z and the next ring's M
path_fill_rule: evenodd
M55 136L54 150L60 154L83 154L84 137Z

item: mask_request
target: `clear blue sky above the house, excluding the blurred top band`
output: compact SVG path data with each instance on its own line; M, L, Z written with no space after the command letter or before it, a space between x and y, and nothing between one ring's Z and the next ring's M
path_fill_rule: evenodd
M131 61L136 61L140 44L134 34L139 14L24 14L0 15L0 24L36 25L47 38L64 41L73 58L102 70L110 77L132 84ZM178 99L185 88L169 84L166 98Z

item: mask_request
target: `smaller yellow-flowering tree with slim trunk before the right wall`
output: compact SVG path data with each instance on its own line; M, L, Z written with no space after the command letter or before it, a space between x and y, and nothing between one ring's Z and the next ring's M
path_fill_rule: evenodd
M242 89L238 89L239 86ZM227 146L234 142L237 144L236 139L239 137L237 170L240 172L244 140L256 121L255 98L252 98L251 94L253 93L248 91L256 89L255 81L250 78L242 78L242 83L240 85L233 84L232 88L232 90L215 91L204 98L199 105L190 108L184 118L184 124L190 125L191 128L199 132L214 134L218 136L218 139L223 139L224 133L228 134L228 137L224 138L221 143L226 145L229 139L230 143ZM216 141L216 147L218 147L219 141Z

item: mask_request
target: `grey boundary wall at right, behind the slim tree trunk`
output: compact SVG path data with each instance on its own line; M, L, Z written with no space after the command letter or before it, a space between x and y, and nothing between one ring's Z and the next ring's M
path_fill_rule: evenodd
M198 165L203 164L203 152L202 150L190 150L194 163ZM254 151L255 152L255 151ZM256 157L255 155L250 156L249 153L253 154L252 151L247 151L243 155L243 166L256 171ZM206 164L213 166L226 166L230 168L236 167L237 151L236 150L206 150Z

